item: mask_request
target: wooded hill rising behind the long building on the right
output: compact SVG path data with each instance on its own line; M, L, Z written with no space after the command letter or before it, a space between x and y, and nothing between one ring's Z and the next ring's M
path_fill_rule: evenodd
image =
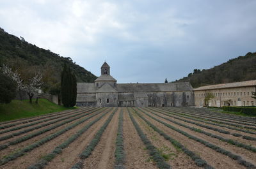
M208 70L195 69L188 77L175 82L190 82L193 87L204 85L223 84L256 79L256 52L214 66Z

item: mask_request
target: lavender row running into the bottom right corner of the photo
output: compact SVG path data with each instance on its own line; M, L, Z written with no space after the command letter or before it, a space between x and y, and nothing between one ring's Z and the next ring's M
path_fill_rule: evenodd
M252 163L244 160L243 158L241 158L241 156L238 156L237 154L234 154L230 151L227 151L225 149L222 149L221 147L218 147L218 145L214 145L213 143L209 143L205 140L202 140L200 138L197 138L196 136L193 136L193 135L189 135L188 133L186 133L185 131L182 131L180 129L177 129L175 127L173 127L172 125L170 124L167 124L166 122L163 122L163 121L160 121L159 119L155 118L155 117L152 117L152 115L149 115L149 114L146 114L148 115L149 117L151 117L152 119L154 119L155 121L157 122L160 122L161 124L164 124L164 126L170 128L170 129L173 129L174 131L177 131L178 133L184 135L184 136L187 136L188 138L192 139L192 140L195 140L196 142L199 142L199 143L202 143L203 145L205 145L206 147L209 147L211 149L213 149L214 151L216 152L220 152L221 154L224 154L225 156L228 156L229 158L232 158L236 161L238 161L238 163L240 165L243 165L243 166L246 166L248 168L256 168L255 165L253 165Z

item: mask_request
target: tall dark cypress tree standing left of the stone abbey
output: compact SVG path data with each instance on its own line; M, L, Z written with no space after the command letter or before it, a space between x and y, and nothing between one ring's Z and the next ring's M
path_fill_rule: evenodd
M70 68L64 64L61 72L61 102L65 107L74 107L76 105L76 77L71 73Z

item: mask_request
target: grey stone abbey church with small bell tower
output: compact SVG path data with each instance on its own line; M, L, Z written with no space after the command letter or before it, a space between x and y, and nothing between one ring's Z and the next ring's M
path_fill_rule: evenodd
M77 83L79 107L189 107L194 106L188 83L117 84L104 62L94 83Z

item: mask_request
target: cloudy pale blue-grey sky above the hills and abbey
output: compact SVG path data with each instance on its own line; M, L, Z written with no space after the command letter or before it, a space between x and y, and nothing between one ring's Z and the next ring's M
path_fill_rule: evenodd
M255 0L0 0L0 27L118 83L169 82L256 52Z

